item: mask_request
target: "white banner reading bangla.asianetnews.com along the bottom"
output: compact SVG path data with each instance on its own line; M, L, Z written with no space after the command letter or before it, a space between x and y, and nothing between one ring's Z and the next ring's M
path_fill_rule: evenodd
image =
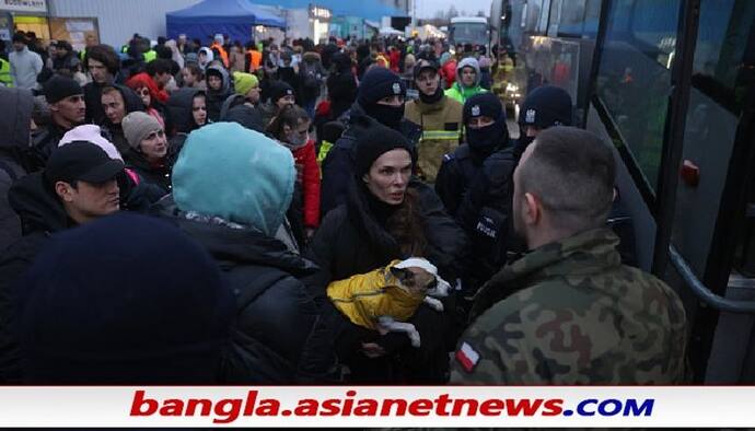
M755 387L0 387L0 427L755 427Z

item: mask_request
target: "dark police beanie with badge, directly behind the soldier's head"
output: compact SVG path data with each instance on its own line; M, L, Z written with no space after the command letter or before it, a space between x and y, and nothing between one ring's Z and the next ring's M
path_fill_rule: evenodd
M519 124L538 129L571 126L571 96L558 86L538 86L524 100L519 112Z

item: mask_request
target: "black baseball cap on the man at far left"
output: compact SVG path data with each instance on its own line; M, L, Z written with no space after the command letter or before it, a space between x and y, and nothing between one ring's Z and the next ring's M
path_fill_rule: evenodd
M77 180L100 184L114 179L123 171L124 162L111 159L96 144L73 141L53 151L45 166L45 178L50 185Z

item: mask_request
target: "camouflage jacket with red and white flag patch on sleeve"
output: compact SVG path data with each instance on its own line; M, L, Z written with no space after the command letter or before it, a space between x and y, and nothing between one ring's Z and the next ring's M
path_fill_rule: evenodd
M676 293L622 265L608 229L544 245L478 292L451 382L673 384L686 316Z

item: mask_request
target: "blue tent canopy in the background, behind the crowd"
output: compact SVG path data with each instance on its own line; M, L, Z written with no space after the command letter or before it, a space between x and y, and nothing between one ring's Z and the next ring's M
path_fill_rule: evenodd
M248 0L205 0L190 8L165 14L169 38L185 33L189 38L206 40L217 33L232 39L252 38L252 26L265 25L286 28L286 20Z

